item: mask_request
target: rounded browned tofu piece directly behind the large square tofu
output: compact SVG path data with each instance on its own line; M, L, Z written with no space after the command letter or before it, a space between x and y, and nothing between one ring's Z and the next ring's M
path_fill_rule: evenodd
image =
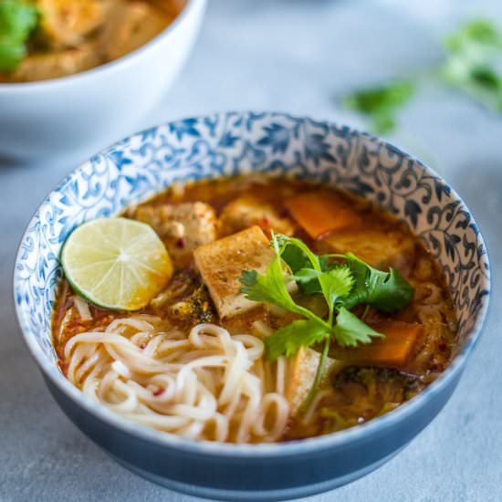
M226 204L220 216L222 234L235 234L240 230L258 225L267 235L273 230L276 234L293 235L295 227L288 218L281 218L276 209L251 195L238 197Z

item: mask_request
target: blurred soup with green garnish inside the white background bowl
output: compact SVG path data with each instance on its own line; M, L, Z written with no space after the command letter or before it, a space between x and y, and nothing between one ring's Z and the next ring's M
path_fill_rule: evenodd
M0 83L68 77L122 58L162 33L182 6L175 0L11 0L0 11L0 25L16 55L0 54Z

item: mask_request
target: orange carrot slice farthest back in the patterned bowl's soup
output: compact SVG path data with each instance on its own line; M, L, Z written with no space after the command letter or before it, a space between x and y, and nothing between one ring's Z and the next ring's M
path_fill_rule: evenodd
M298 225L314 239L319 235L361 225L361 217L333 193L308 192L286 203L289 213Z

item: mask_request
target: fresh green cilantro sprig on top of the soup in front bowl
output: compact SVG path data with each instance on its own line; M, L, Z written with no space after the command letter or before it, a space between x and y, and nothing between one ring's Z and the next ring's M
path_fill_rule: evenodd
M241 292L247 299L272 303L305 318L294 320L267 337L267 359L291 357L301 347L324 343L308 406L319 387L331 340L341 347L356 347L385 338L350 309L359 304L384 312L402 309L412 300L413 288L394 268L389 272L377 270L352 253L318 256L300 239L286 235L272 235L270 246L276 256L266 274L243 270ZM345 263L333 258L342 258ZM289 274L285 274L285 266ZM288 292L288 280L295 280L305 294L322 295L328 306L328 319L298 305Z

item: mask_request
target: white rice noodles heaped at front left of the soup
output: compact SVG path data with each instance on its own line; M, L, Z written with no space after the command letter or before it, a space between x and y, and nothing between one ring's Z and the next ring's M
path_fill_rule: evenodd
M284 434L286 362L262 340L199 324L188 337L162 319L115 319L68 340L68 380L115 413L193 439L256 443ZM270 382L264 382L264 375Z

